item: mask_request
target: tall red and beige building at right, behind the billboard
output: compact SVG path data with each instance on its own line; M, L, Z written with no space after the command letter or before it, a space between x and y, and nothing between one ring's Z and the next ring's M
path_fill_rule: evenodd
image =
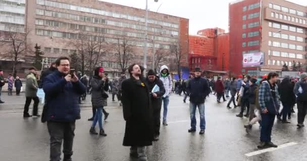
M230 71L257 73L281 71L305 64L307 7L283 0L246 0L229 4L230 62L242 62L243 54L263 52L263 66L243 68L232 63Z

